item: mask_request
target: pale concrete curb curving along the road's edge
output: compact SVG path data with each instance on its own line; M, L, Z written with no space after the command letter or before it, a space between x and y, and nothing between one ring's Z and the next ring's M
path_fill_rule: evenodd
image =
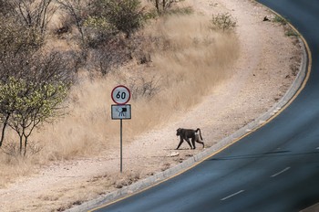
M101 207L103 205L107 205L108 203L111 203L119 198L122 198L124 196L129 196L130 194L142 191L146 188L148 188L151 185L159 184L160 182L174 176L178 175L182 171L190 168L192 165L201 162L205 158L211 156L212 154L216 153L217 151L221 150L222 148L232 144L234 141L240 139L243 135L252 132L253 130L258 129L262 126L262 123L270 120L278 111L281 111L283 109L284 105L286 105L290 100L293 99L293 96L297 93L297 91L301 88L305 76L306 76L306 68L307 68L307 52L304 46L304 41L299 38L300 43L302 44L303 48L303 58L302 63L299 68L298 75L296 79L293 81L293 84L289 88L289 90L286 91L286 93L283 95L283 98L275 103L273 107L269 110L263 113L261 116L259 116L254 121L248 123L244 127L242 127L237 132L232 133L232 135L224 138L221 140L221 142L214 144L209 149L201 152L200 154L196 154L189 159L185 160L181 164L178 164L174 167L171 167L170 169L167 169L163 172L160 172L156 175L152 175L148 178L142 179L137 183L134 183L132 185L128 185L126 187L123 187L121 189L118 189L117 191L111 192L104 196L99 196L96 199L87 201L80 206L73 207L68 209L68 212L80 212L80 211L87 211L89 209Z

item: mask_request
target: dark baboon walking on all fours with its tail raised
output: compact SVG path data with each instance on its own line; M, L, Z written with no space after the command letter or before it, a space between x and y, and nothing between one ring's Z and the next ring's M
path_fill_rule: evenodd
M200 132L200 134L198 134L197 132ZM197 130L179 128L179 129L177 129L176 135L180 136L180 143L176 148L177 150L180 148L180 145L181 145L181 143L184 142L184 140L187 143L189 143L190 149L196 149L195 142L201 143L202 148L204 148L204 143L202 142L200 128L197 128ZM201 137L201 140L200 140L200 137ZM190 138L191 138L192 145L190 144Z

